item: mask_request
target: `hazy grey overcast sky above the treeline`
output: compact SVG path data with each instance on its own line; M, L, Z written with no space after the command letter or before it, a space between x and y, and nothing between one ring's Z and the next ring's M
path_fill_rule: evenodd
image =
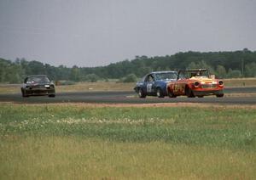
M256 50L256 0L0 0L0 58L93 67Z

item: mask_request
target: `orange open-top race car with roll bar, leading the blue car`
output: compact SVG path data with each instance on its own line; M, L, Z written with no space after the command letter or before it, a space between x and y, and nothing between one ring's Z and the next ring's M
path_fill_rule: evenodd
M224 82L210 76L207 69L178 70L177 81L167 85L170 98L186 95L189 98L202 98L207 95L224 96Z

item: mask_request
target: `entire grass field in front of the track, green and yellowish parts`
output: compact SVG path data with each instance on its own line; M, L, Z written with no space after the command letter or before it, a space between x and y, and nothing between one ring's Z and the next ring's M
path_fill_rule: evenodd
M255 110L0 104L0 179L255 179Z

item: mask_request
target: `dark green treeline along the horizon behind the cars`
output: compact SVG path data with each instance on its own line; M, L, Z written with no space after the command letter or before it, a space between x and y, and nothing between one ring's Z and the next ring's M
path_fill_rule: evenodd
M20 83L26 76L45 74L55 81L96 82L98 80L142 77L150 71L207 68L220 78L256 77L256 51L187 52L166 56L136 56L107 66L68 68L38 61L0 59L0 82ZM132 77L132 78L131 78ZM131 81L131 80L130 80Z

